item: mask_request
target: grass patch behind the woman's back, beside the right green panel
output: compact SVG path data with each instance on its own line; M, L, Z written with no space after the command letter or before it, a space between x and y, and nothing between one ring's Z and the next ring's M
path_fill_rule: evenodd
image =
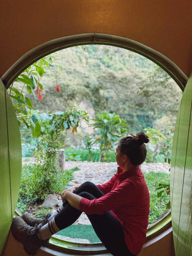
M149 172L143 173L145 176L145 181L150 193L150 214L149 214L149 224L158 219L163 212L166 210L166 204L170 200L169 195L165 195L161 201L157 197L157 191L155 189L158 187L159 183L169 184L170 174L162 172ZM166 193L166 192L165 192ZM163 194L165 194L163 193Z

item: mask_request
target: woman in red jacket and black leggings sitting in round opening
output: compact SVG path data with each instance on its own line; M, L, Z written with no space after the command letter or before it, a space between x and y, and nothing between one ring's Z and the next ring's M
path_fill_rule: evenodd
M138 254L145 242L150 197L139 168L149 138L143 132L120 140L117 173L104 185L85 182L61 193L63 205L44 219L28 213L13 219L11 230L28 254L35 255L52 234L72 225L85 212L106 249L114 256Z

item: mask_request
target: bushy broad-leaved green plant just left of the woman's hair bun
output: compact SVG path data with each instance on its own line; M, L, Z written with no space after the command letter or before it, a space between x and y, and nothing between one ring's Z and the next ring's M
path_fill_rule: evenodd
M98 129L96 134L100 137L94 143L100 143L100 162L103 162L104 156L114 147L115 142L126 135L127 129L125 129L125 126L128 125L125 120L121 120L120 116L115 113L102 112L97 114L96 117L97 119L92 119L95 123L90 126L93 126L93 129Z

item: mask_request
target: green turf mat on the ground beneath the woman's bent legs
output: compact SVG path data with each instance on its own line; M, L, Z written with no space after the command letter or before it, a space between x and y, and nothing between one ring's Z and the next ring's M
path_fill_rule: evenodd
M71 225L68 228L57 232L56 234L71 238L88 239L90 243L101 242L98 236L95 234L92 225Z

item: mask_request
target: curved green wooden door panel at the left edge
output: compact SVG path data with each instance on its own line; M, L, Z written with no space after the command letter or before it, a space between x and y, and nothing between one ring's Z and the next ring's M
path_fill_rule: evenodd
M0 253L6 241L18 199L21 143L10 97L0 80Z

